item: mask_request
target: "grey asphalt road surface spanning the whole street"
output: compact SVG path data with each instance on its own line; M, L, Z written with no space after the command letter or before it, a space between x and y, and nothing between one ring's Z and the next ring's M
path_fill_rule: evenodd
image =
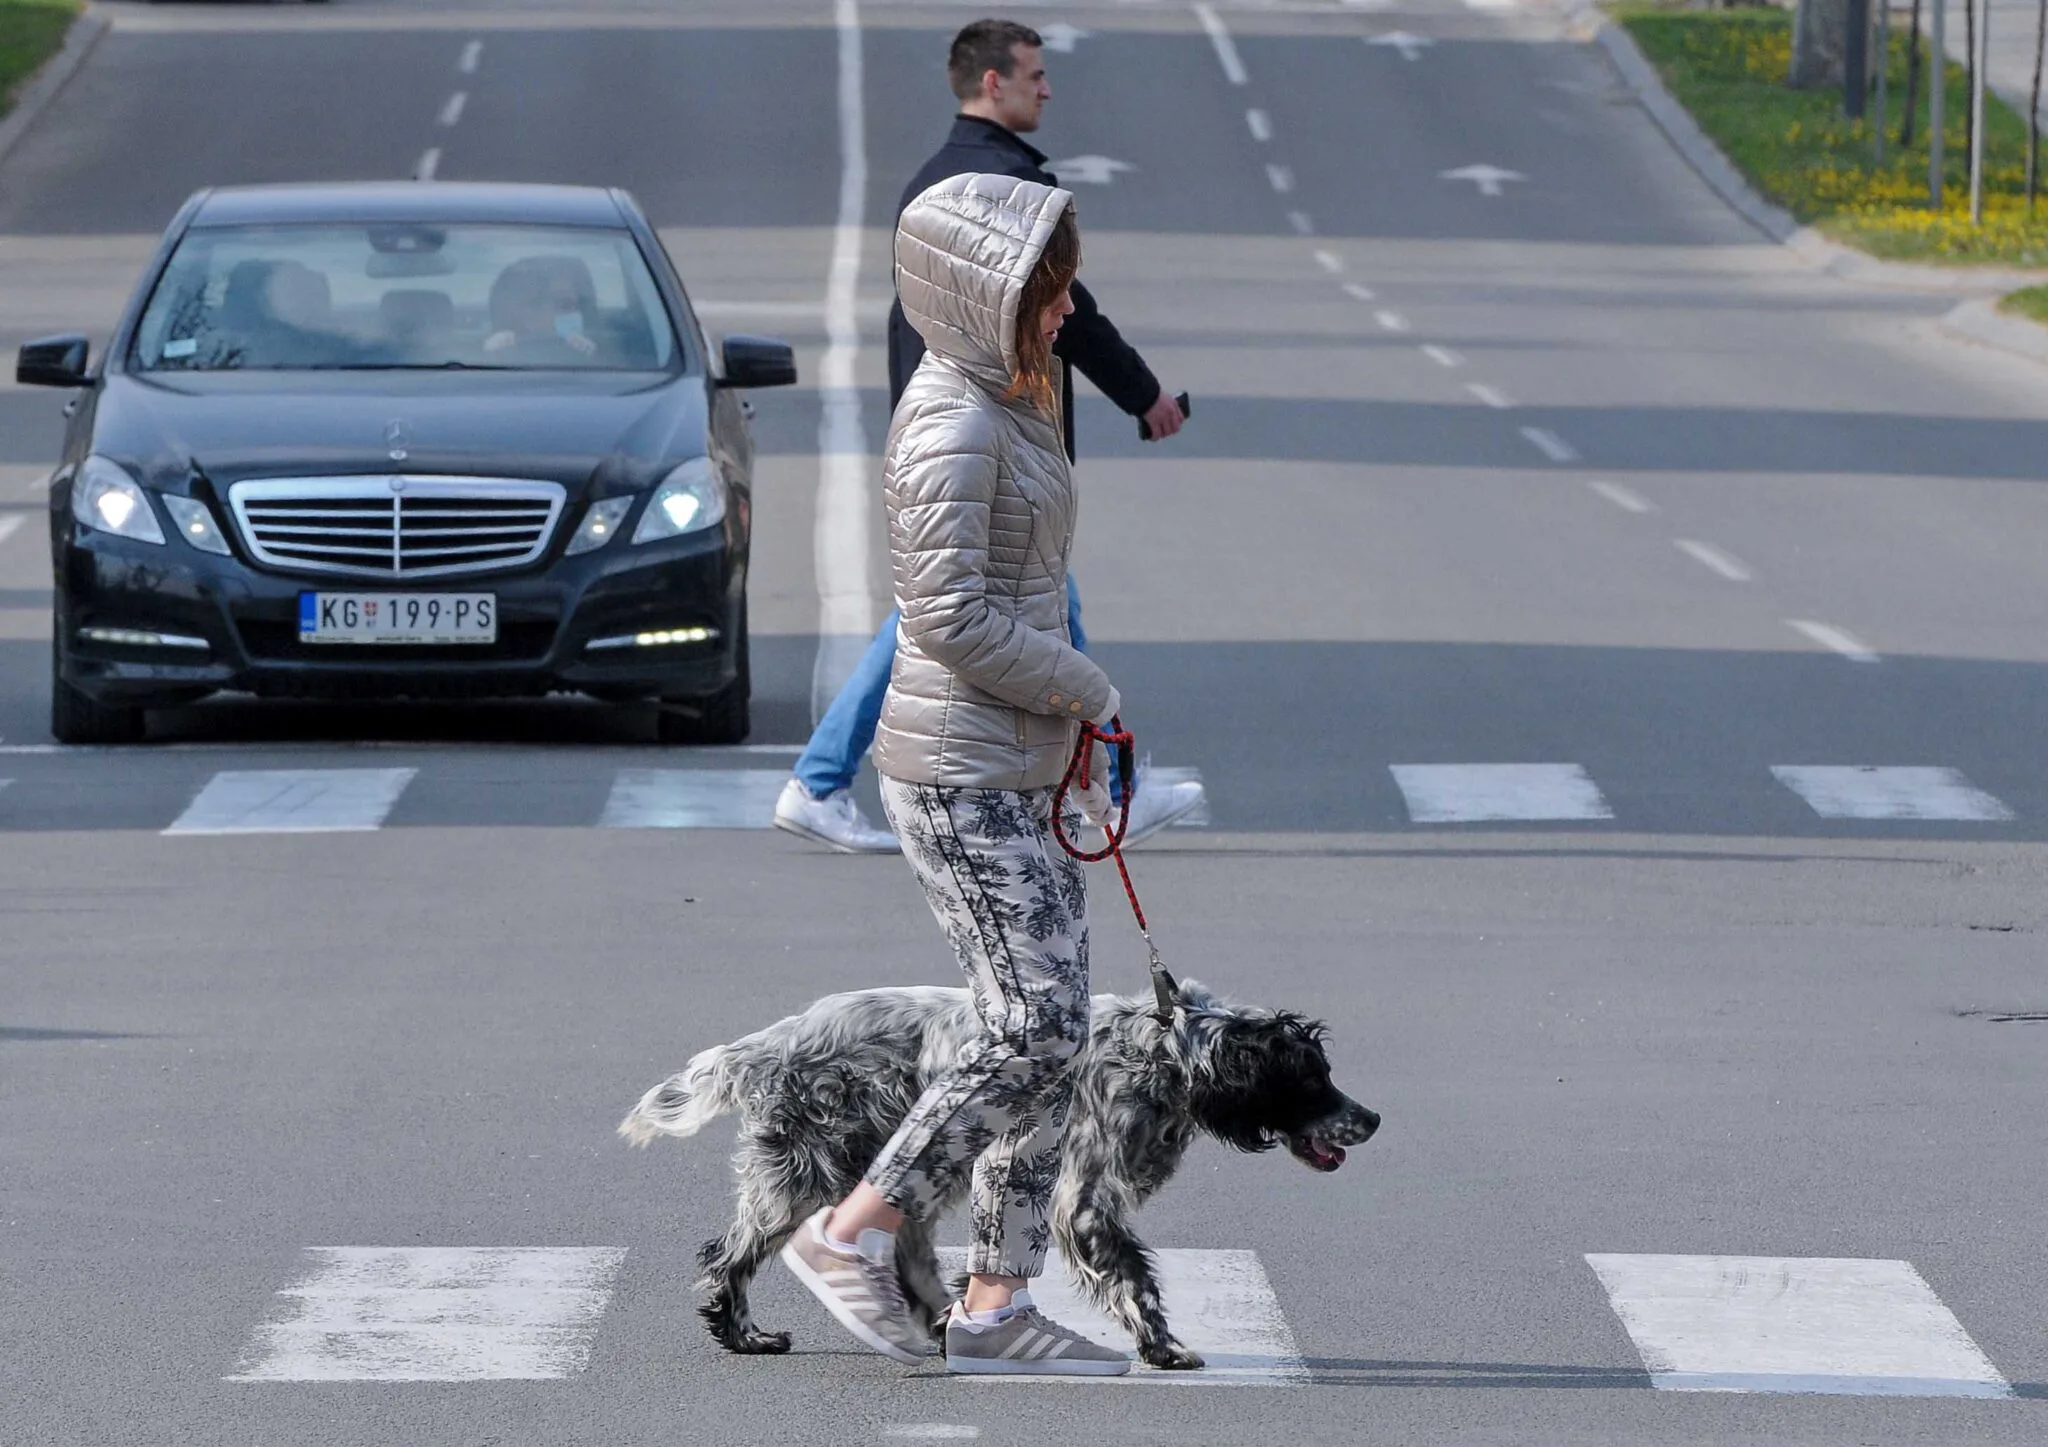
M102 8L0 162L0 344L104 334L199 184L432 149L444 178L629 186L713 325L819 377L827 0ZM858 6L870 442L879 223L973 12ZM821 567L870 602L883 577L879 528L813 536L815 383L756 422L754 747L696 753L569 702L221 702L152 747L51 747L61 397L0 385L0 1441L2040 1441L2048 372L1767 246L1538 6L1026 14L1085 31L1040 143L1128 166L1075 182L1087 276L1196 395L1157 448L1081 409L1090 632L1212 800L1139 886L1176 968L1327 1019L1386 1117L1335 1177L1198 1150L1141 1218L1188 1283L1255 1253L1253 1382L903 1371L778 1269L758 1312L797 1351L727 1357L690 1289L723 1134L610 1134L821 993L950 982L899 860L760 827ZM1395 31L1417 43L1366 43ZM1444 176L1473 166L1516 178ZM195 833L254 770L391 788L356 831ZM1096 941L1102 986L1139 989L1108 876ZM557 1273L518 1300L573 1298L543 1322L569 1365L365 1379L377 1341L446 1347L496 1298L434 1298L416 1255L336 1296L336 1248ZM1780 1390L1667 1390L1688 1349L1626 1318L1610 1255L1716 1263L1690 1351L1819 1291L1823 1345L1911 1318L2011 1392L1950 1396L1911 1353L1786 1392L1817 1373L1755 1330L1741 1386ZM1829 1296L1837 1259L1927 1298ZM315 1343L356 1379L293 1379L305 1302L387 1312Z

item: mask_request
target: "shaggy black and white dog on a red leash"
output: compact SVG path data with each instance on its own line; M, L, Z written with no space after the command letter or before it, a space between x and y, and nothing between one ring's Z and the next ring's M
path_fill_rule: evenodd
M1153 1257L1130 1228L1137 1208L1174 1177L1198 1132L1237 1150L1286 1144L1309 1167L1335 1171L1343 1148L1368 1140L1380 1117L1331 1083L1321 1023L1233 1005L1194 980L1174 991L1169 1027L1151 999L1094 1001L1090 1040L1071 1066L1053 1238L1081 1289L1137 1339L1143 1361L1200 1367L1167 1330ZM705 1050L625 1117L618 1134L645 1146L739 1111L739 1214L698 1253L698 1285L711 1291L698 1314L727 1351L788 1351L788 1332L754 1326L754 1273L805 1218L860 1181L977 1032L965 989L827 995ZM903 1224L897 1271L911 1310L936 1328L952 1300L930 1226Z

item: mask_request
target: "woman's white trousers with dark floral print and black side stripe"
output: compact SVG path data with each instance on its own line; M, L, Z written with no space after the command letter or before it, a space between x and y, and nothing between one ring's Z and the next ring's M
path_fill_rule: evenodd
M967 1269L1034 1277L1053 1240L1067 1064L1087 1040L1087 882L1053 837L1051 788L885 776L883 808L967 970L983 1034L918 1099L868 1185L926 1218L971 1173Z

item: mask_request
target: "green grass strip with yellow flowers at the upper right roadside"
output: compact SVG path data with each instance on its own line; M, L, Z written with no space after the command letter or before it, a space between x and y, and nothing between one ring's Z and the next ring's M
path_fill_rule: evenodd
M1970 88L1962 65L1946 68L1944 125L1948 205L1927 207L1927 43L1892 31L1890 123L1876 162L1876 106L1860 121L1841 113L1841 90L1792 90L1792 14L1772 8L1681 10L1614 6L1671 94L1692 111L1749 182L1815 229L1872 256L1901 262L2048 266L2048 199L2025 203L2025 121L1985 96L1985 223L1970 223L1970 149L1964 141ZM1917 41L1921 94L1913 145L1901 149L1907 45ZM2044 162L2048 168L2048 162Z

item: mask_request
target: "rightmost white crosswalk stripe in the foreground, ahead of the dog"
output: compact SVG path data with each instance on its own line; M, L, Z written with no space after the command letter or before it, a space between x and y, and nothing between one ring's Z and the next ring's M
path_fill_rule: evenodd
M1585 1261L1665 1392L2013 1394L1909 1261Z

